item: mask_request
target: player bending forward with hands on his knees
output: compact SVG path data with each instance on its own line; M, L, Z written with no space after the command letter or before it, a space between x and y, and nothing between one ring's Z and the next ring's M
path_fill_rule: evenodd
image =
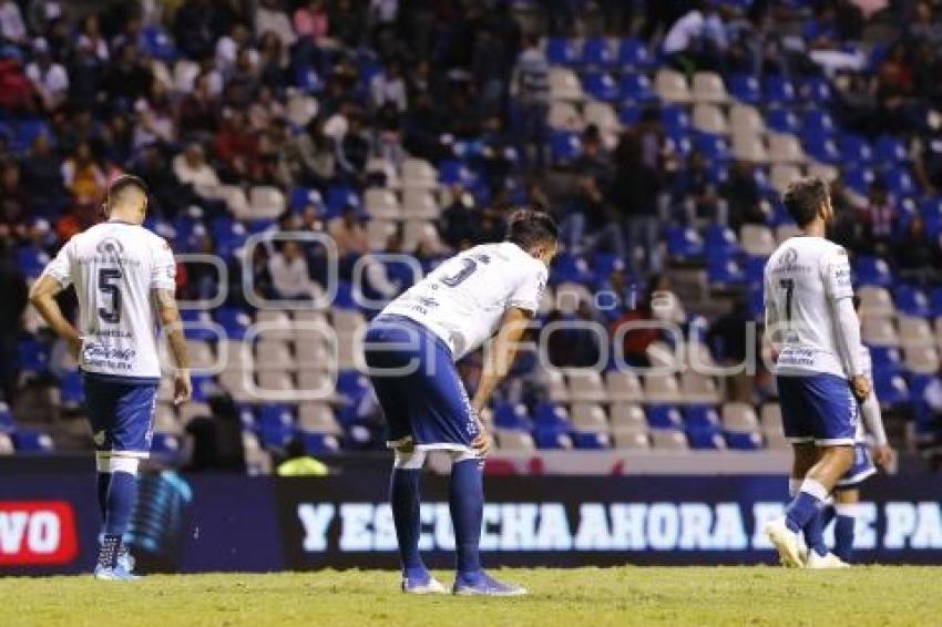
M483 458L490 436L480 420L506 376L516 343L536 311L556 253L559 229L541 212L515 212L506 239L475 246L436 268L370 323L365 352L395 451L389 498L402 564L402 590L444 593L419 554L420 475L429 451L453 461L449 505L460 595L525 594L482 568ZM496 333L469 400L454 361Z

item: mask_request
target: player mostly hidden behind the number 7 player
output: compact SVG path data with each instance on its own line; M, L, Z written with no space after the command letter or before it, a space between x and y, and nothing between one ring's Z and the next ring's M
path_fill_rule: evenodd
M858 304L854 297L854 305ZM850 563L853 551L853 527L857 516L857 504L860 502L860 486L871 477L878 466L885 467L893 459L893 450L887 440L887 431L883 429L883 418L880 413L880 403L873 391L873 366L870 359L870 350L860 347L860 360L863 371L871 382L870 395L860 405L863 421L857 426L857 442L853 445L853 464L850 470L838 481L835 486L832 505L825 507L820 514L823 517L822 528L827 528L830 520L835 521L835 548L833 554L844 563ZM863 425L867 425L864 430ZM873 455L870 454L870 445L867 441L868 432L873 438Z

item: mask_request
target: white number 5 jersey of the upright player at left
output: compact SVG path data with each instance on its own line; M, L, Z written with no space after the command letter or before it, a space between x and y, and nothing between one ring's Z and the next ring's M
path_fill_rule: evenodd
M85 372L158 379L154 289L176 289L176 263L163 238L106 222L70 239L45 274L75 286Z

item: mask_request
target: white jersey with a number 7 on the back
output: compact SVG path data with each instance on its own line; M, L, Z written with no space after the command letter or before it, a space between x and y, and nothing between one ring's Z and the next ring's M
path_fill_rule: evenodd
M776 371L848 379L835 316L835 304L853 296L844 249L822 237L790 237L769 257L765 284L766 332L779 348Z

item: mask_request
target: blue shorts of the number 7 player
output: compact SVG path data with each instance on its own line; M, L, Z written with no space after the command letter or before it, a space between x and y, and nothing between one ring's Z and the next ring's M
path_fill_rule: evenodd
M788 441L819 446L850 446L857 442L859 408L850 383L835 374L776 377L781 422Z

